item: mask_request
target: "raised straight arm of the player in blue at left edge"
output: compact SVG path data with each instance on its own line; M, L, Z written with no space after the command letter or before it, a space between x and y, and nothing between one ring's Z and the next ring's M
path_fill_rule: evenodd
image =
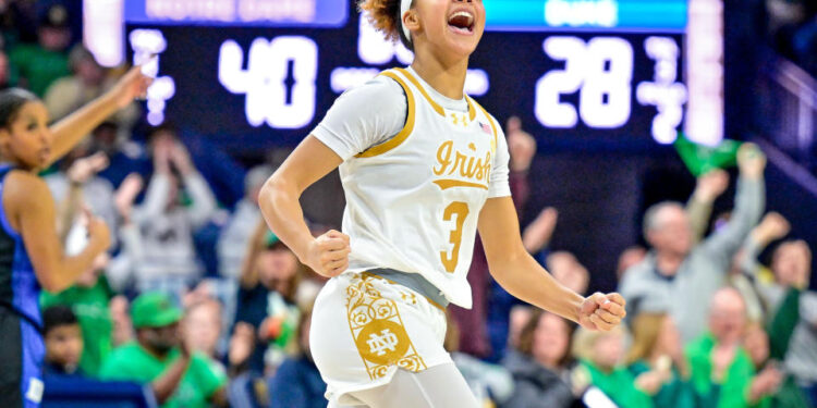
M60 160L110 115L144 95L153 79L134 66L109 91L51 125L53 137L49 165Z

